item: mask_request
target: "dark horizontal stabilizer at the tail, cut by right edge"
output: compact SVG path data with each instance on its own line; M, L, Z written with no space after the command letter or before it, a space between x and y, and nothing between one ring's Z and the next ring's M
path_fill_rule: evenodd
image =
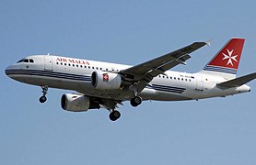
M219 87L225 87L225 88L233 88L233 87L239 87L247 82L252 81L256 78L256 72L250 73L248 75L227 81L227 82L221 82L218 83L217 86Z

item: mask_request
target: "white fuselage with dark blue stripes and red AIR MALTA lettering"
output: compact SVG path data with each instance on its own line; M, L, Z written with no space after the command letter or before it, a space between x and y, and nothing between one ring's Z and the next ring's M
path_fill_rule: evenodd
M134 93L129 88L97 90L91 84L93 71L118 72L131 67L129 65L52 55L35 55L26 59L33 61L17 62L6 69L6 74L19 82L74 90L87 96L114 98L121 101L134 97ZM165 74L155 77L139 95L143 100L180 101L222 97L250 91L247 85L226 90L216 86L216 83L225 81L227 80L224 78L200 72L192 74L166 71Z

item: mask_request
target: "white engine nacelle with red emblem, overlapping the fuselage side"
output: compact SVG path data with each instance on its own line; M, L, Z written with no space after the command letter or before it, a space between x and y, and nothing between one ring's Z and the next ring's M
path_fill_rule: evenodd
M99 90L119 89L122 84L122 77L118 73L106 71L93 71L91 84Z

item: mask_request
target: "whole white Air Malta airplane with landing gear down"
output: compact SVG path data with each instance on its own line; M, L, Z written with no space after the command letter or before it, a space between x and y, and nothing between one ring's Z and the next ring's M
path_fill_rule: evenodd
M118 104L130 101L137 106L146 100L184 101L250 92L245 83L256 72L237 78L244 38L231 38L202 71L169 71L186 64L191 53L209 42L194 42L135 66L54 55L32 55L6 68L6 75L18 82L41 86L40 102L48 88L76 91L64 93L61 106L66 111L84 112L105 108L111 121L120 118Z

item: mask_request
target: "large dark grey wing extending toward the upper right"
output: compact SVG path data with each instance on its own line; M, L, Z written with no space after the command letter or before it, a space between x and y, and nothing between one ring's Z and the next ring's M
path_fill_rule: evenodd
M189 53L202 48L206 44L208 43L194 42L189 46L169 52L156 59L148 60L134 67L122 70L120 73L123 75L124 79L134 82L135 90L141 92L154 77L163 74L176 65L186 64L185 61L191 58Z

